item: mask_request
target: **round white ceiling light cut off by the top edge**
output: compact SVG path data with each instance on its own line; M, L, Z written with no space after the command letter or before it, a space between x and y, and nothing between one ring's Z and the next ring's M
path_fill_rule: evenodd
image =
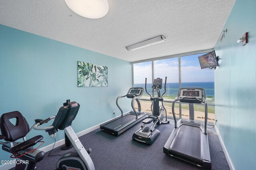
M102 18L108 13L107 0L65 0L68 7L85 18Z

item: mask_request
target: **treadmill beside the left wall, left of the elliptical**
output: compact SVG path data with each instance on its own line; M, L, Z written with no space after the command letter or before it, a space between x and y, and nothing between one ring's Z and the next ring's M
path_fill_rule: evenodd
M146 117L146 113L141 111L140 101L138 100L142 96L143 92L144 88L142 87L132 87L128 90L125 96L119 96L116 99L116 105L121 111L121 116L103 123L100 125L100 129L118 136ZM124 97L132 98L132 110L125 114L118 105L118 100ZM138 111L136 111L134 108L134 100L136 100L138 104Z

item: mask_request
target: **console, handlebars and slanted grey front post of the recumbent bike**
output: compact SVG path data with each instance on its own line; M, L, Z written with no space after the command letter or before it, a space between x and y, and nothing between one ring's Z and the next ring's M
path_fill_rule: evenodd
M94 170L94 164L90 157L91 149L86 151L79 141L76 133L73 131L72 121L75 119L80 105L76 102L68 102L66 106L60 107L56 116L49 117L45 120L34 125L35 130L45 130L49 135L55 134L59 130L64 130L68 139L76 149L76 151L68 152L63 155L57 162L56 168L58 170ZM40 125L47 123L51 119L54 119L53 123L49 127L39 127Z

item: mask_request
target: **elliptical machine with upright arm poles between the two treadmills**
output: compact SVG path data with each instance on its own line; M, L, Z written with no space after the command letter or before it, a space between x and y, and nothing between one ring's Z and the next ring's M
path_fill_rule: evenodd
M155 127L160 124L170 123L170 121L167 120L167 111L163 104L164 102L163 96L166 92L166 79L167 77L165 77L164 93L162 95L160 93L160 89L162 89L163 79L162 78L154 79L154 82L152 85L152 94L154 94L154 92L157 92L157 97L155 98L152 98L152 96L147 92L147 87L146 87L147 78L145 79L145 90L146 90L146 93L150 96L150 100L152 102L151 104L152 115L148 115L148 117L143 119L142 123L144 123L144 125L142 125L141 128L138 129L132 135L132 139L151 145L152 143L154 143L154 141L160 134L160 131L155 129ZM153 106L153 109L152 109L152 106ZM153 122L153 125L146 126L152 122Z

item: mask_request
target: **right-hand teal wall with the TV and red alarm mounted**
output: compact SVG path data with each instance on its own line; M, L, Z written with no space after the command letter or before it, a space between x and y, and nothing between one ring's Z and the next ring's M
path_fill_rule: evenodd
M236 170L256 168L256 1L236 0L214 49L217 128ZM248 32L245 46L236 41Z

